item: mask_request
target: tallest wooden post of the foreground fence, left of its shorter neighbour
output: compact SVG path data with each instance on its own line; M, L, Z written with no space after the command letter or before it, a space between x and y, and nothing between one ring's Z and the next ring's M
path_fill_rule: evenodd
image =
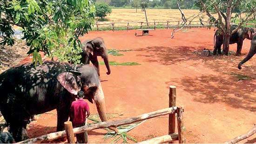
M169 86L169 107L176 105L176 86ZM168 134L175 133L175 113L169 114Z

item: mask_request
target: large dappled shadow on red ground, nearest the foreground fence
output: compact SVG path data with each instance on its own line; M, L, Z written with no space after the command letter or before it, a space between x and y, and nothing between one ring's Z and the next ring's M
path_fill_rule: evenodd
M195 79L185 77L167 84L173 82L182 85L183 90L189 92L197 102L222 102L234 108L256 111L256 97L253 96L256 83L251 80L236 81L231 76L202 75Z

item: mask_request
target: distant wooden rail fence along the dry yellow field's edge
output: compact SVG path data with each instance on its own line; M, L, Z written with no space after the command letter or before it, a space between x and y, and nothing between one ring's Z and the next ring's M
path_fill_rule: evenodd
M190 23L188 20L187 23ZM194 24L192 24L194 23ZM202 21L203 25L200 23L200 21L191 21L190 25L186 25L185 27L203 27L203 26L209 26L209 21ZM136 25L132 26L130 24ZM150 25L151 24L151 25ZM152 25L153 24L153 25ZM116 28L124 28L124 29L134 29L134 28L140 28L142 29L143 27L147 28L174 28L174 27L181 27L182 21L154 21L154 22L143 22L143 21L138 21L138 22L111 22L111 23L96 23L96 27L94 26L92 29L96 29L99 31L99 29L112 29L115 31ZM103 26L103 25L108 25L108 26ZM117 26L116 26L117 25ZM103 26L103 27L102 27Z

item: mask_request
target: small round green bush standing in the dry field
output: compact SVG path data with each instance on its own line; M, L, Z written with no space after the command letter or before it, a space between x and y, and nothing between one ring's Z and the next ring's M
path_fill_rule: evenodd
M107 3L96 4L96 16L104 19L107 14L112 12L111 7Z

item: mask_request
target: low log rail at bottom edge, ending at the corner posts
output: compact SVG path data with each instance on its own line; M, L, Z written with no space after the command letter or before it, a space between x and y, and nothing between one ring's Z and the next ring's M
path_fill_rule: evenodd
M155 137L152 139L139 142L138 144L162 144L162 143L172 142L174 140L178 140L177 133L172 133L172 134L161 136L161 137Z

